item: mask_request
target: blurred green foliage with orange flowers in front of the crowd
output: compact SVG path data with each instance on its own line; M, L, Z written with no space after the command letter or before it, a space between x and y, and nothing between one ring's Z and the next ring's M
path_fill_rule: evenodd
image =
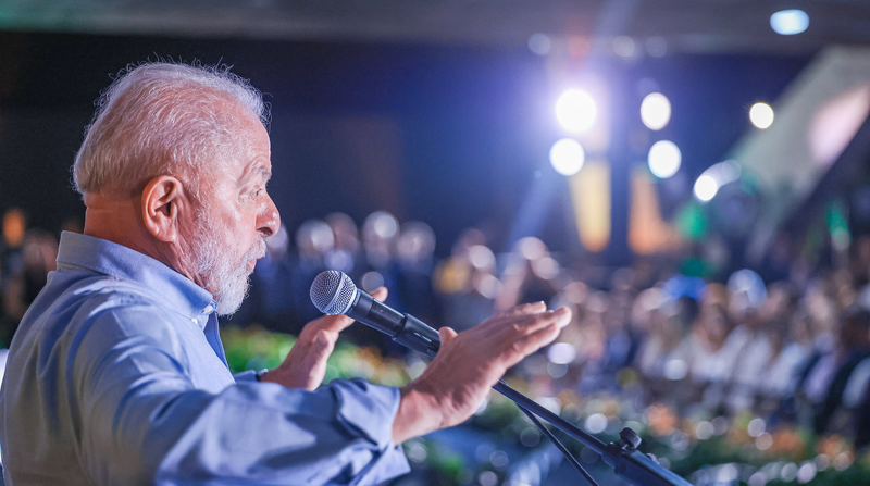
M293 336L260 327L226 326L222 331L222 339L227 362L234 373L277 366L296 342ZM363 377L377 384L401 386L410 379L403 361L383 358L373 348L359 348L340 341L327 363L325 382ZM513 379L510 384L521 391L529 388L522 379ZM747 413L730 420L728 428L719 431L719 434L709 434L707 438L700 439L697 431L698 425L704 422L703 418L679 418L663 404L635 410L634 400L631 399L607 395L579 397L568 390L556 398L561 404L562 418L579 427L583 427L585 420L593 413L605 415L607 429L596 435L606 443L618 441L619 429L625 425L632 426L643 438L643 452L656 454L672 471L691 481L699 478L705 472L712 471L711 474L714 474L716 469L723 464L732 464L741 471L768 474L767 484L770 486L798 484L796 479L783 482L778 476L784 464L792 463L791 468L794 470L800 464L826 462L824 466L819 466L815 477L803 484L870 484L868 457L856 458L848 441L842 437L815 437L809 431L781 425L765 432L769 445L760 447L758 439L747 433L749 422L755 419ZM489 395L483 413L474 415L469 425L486 432L497 441L513 445L521 444L523 431L531 426L511 401L496 392ZM546 439L540 440L543 444ZM580 444L568 440L567 445L575 454L580 454ZM421 447L425 450L424 459L418 466L431 471L436 484L469 484L480 472L480 468L465 464L457 452L428 438L420 438L405 446L417 447L418 451ZM504 476L501 472L497 474L499 477Z

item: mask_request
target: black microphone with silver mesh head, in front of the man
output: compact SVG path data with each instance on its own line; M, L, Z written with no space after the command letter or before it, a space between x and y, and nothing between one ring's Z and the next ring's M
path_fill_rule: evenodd
M344 272L321 272L311 284L311 302L324 314L345 314L396 342L430 357L438 353L438 332L410 314L401 314L357 288Z

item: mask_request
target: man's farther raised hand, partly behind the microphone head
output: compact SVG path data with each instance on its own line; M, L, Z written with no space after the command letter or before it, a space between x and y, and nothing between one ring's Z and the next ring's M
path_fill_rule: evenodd
M381 287L372 292L372 297L383 302L387 289ZM260 381L288 388L316 389L326 374L326 360L335 349L338 333L350 324L353 320L347 315L324 315L306 324L284 362L263 374Z

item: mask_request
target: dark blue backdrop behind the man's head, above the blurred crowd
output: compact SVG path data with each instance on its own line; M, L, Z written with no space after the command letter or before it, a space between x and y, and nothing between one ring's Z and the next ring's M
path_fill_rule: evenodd
M20 207L29 225L58 230L84 205L70 166L112 75L145 60L226 63L272 104L270 192L290 232L332 211L358 223L375 210L422 220L449 252L465 227L485 228L505 250L533 184L555 176L547 160L562 133L546 61L526 48L409 43L217 40L0 33L0 211ZM749 129L748 108L773 101L809 55L673 54L602 58L594 70L613 109L613 247L624 248L626 148L641 127L644 86L671 100L652 135L676 142L678 175L659 188L666 216L695 178ZM580 71L577 62L571 68ZM588 65L586 66L588 67ZM651 82L651 84L650 84ZM567 185L540 222L556 250L579 251ZM522 235L521 235L522 236Z

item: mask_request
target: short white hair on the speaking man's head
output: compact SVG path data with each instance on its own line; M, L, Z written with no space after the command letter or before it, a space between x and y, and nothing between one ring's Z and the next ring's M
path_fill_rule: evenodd
M227 66L166 62L128 66L97 101L75 158L73 179L83 196L134 196L160 175L183 179L199 197L199 182L238 153L240 101L268 126L259 90Z

